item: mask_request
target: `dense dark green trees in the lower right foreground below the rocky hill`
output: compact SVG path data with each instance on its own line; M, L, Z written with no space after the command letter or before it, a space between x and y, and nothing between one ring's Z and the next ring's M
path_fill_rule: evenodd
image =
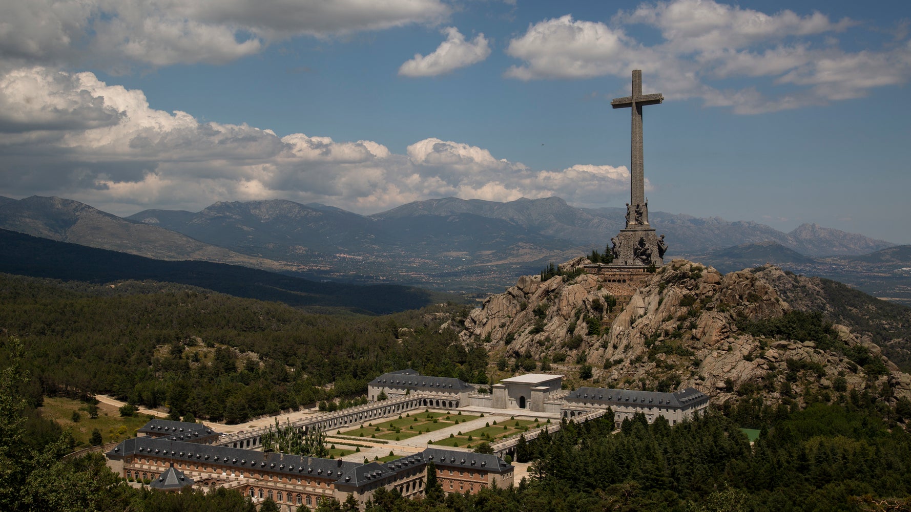
M750 445L720 411L691 422L649 425L643 415L612 434L613 418L564 423L525 443L534 460L517 486L443 497L428 473L424 501L374 495L376 512L822 511L906 510L911 437L889 430L876 411L852 405L784 407ZM876 508L879 507L879 508Z

